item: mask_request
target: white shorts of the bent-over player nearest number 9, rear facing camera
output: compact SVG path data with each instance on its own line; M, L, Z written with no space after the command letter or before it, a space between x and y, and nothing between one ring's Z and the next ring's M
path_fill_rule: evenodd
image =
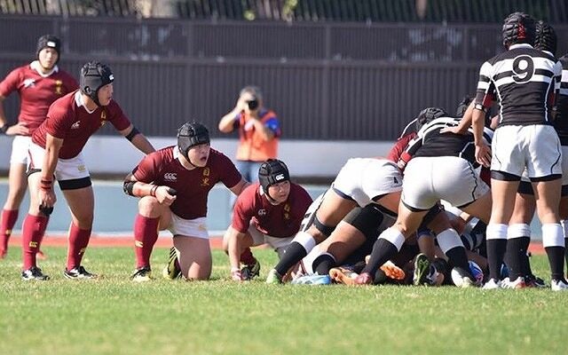
M405 170L401 200L409 209L426 210L438 200L460 208L489 191L465 159L457 156L416 157Z

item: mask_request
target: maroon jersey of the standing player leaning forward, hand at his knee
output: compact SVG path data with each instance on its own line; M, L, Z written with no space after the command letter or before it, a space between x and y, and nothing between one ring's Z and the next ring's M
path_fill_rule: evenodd
M116 130L126 130L130 120L122 114L116 101L97 107L91 114L83 105L79 106L79 91L68 93L56 100L47 113L47 119L32 135L32 141L45 147L47 133L55 138L63 139L59 150L60 159L70 159L81 153L87 140L106 122L111 122Z

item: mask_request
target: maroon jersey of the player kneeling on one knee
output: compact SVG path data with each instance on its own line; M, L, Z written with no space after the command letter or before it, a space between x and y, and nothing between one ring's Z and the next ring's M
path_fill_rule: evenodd
M177 159L177 154L177 146L168 146L147 154L132 170L132 175L144 183L166 185L176 189L177 198L170 209L178 217L206 217L207 198L213 186L222 182L231 188L241 181L241 173L231 159L215 149L210 149L204 167L193 170L185 169Z

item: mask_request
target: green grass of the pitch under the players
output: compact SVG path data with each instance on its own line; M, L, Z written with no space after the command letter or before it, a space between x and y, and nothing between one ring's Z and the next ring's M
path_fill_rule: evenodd
M273 286L261 279L129 280L130 248L90 248L104 280L65 280L65 248L45 248L47 282L20 280L20 250L0 261L0 354L565 353L568 294L550 289ZM167 250L154 250L154 272ZM545 256L533 268L548 274ZM157 275L159 276L159 275Z

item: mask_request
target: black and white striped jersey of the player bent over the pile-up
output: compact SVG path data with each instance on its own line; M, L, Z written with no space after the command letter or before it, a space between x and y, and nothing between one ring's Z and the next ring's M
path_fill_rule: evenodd
M460 118L440 117L425 124L418 131L416 138L408 143L406 153L416 156L458 156L474 167L477 167L476 148L473 140L473 130L469 128L465 134L440 133L446 127L454 127L460 123ZM493 130L484 128L485 144L491 146Z

